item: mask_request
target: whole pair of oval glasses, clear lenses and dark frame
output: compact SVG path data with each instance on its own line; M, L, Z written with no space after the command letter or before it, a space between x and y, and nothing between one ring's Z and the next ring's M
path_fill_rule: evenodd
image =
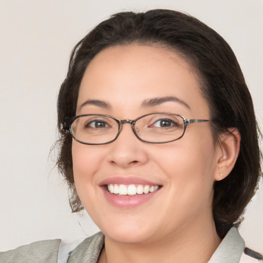
M101 145L115 141L122 125L129 123L136 137L148 143L176 141L184 135L186 126L191 123L209 120L185 119L179 114L158 112L143 115L135 120L118 120L102 114L86 114L66 118L63 128L83 144Z

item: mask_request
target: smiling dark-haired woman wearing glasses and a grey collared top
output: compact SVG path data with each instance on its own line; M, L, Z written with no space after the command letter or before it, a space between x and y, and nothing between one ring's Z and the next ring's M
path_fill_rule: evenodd
M72 51L58 127L72 211L103 233L67 262L257 261L233 228L260 176L257 124L214 30L172 10L111 16ZM57 262L59 243L35 254Z

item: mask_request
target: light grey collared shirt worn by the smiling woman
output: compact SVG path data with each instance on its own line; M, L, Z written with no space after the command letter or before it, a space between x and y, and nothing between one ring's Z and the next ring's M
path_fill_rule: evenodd
M0 263L97 263L104 247L104 235L99 232L84 239L71 252L60 246L61 240L45 240L31 243L14 250L0 253ZM236 228L228 234L208 263L258 263L255 258L243 253L245 242ZM59 262L58 262L59 258Z

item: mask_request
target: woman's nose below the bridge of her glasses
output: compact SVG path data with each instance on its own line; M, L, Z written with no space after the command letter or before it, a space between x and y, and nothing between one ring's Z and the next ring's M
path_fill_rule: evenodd
M119 137L108 145L108 161L121 168L142 165L148 161L147 143L136 137L129 124L130 122L123 122Z

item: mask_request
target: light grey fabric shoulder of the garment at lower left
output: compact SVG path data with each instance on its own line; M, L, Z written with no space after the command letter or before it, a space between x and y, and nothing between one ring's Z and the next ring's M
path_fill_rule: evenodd
M0 252L0 263L57 263L61 239L36 241L6 252Z

